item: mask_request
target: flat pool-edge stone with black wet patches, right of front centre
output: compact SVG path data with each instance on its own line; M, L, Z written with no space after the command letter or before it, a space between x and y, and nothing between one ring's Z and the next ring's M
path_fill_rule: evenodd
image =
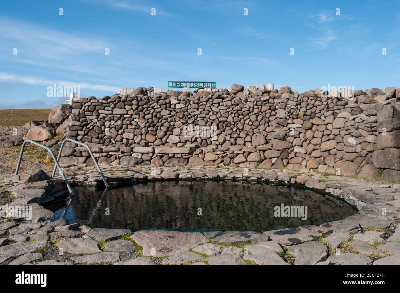
M266 231L264 235L284 245L294 245L316 239L324 233L323 231L326 230L315 231L298 227Z

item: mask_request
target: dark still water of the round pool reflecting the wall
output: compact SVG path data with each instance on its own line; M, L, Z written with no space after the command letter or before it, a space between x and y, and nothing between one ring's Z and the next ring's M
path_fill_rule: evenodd
M314 191L245 182L164 181L112 188L107 192L74 187L67 207L47 207L56 219L90 227L173 229L177 231L257 231L320 225L354 211ZM276 217L275 206L307 206L301 217ZM198 215L201 209L202 215ZM106 215L109 211L109 215Z

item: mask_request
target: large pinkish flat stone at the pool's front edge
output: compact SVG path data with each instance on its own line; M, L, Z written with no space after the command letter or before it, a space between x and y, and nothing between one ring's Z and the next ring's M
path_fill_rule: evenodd
M167 256L186 251L208 239L199 232L178 232L166 230L142 230L130 238L143 247L143 255Z

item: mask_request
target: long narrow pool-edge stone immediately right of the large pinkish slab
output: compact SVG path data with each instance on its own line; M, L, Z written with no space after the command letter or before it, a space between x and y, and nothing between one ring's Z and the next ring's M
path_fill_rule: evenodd
M204 235L213 242L222 242L227 244L240 244L243 242L261 242L268 241L268 236L253 231L207 231Z

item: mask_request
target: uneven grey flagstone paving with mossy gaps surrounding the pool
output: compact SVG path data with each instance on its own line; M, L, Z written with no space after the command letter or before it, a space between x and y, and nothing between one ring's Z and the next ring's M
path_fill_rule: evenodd
M96 169L62 166L68 181L101 185ZM400 185L300 171L221 167L103 167L112 185L146 180L227 180L303 186L358 212L339 221L256 233L105 229L54 219L42 203L68 196L59 177L9 181L10 205L32 219L0 222L1 265L400 265ZM44 176L42 174L42 176Z

